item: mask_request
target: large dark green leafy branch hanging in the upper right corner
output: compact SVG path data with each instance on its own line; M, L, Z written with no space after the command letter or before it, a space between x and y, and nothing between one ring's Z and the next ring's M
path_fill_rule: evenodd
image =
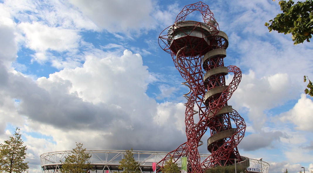
M279 1L279 5L283 13L265 23L269 32L276 30L279 33L291 33L295 45L304 40L310 42L313 34L313 1L299 1L296 4L292 0Z

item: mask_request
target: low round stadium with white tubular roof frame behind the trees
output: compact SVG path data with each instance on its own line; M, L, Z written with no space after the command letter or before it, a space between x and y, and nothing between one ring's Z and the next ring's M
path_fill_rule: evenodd
M125 150L86 150L85 152L91 155L89 162L92 165L91 172L95 173L113 173L119 172L118 166L122 158L124 158ZM136 161L140 163L140 170L142 173L152 173L152 163L158 163L168 154L162 151L132 151ZM65 160L71 150L68 151L54 151L40 155L41 169L43 173L61 173L61 161ZM208 158L209 154L200 154L201 161ZM268 173L269 164L262 159L249 159L250 166L247 168L249 173ZM181 167L181 160L177 162L178 167ZM240 164L237 163L237 164ZM157 168L158 169L158 168Z

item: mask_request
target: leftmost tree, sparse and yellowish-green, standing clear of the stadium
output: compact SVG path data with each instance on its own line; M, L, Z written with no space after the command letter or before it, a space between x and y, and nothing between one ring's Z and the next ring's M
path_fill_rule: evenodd
M9 140L0 144L0 172L20 173L28 170L28 162L23 163L26 158L26 145L23 145L20 129L16 128Z

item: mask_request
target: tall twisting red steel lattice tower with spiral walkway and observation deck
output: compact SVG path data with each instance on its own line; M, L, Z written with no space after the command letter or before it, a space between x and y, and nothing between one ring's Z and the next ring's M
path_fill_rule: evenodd
M203 22L185 21L193 11L202 14ZM236 66L224 66L228 37L219 31L208 5L198 2L185 6L175 23L160 34L159 45L171 54L177 70L186 80L182 84L190 91L183 95L187 98L187 142L168 153L158 166L162 167L170 158L177 161L186 156L188 172L200 173L213 166L232 165L235 159L242 161L237 145L244 137L246 125L237 111L227 104L241 80L241 71ZM234 76L226 85L225 75L229 72ZM232 128L232 124L236 127ZM203 144L201 138L208 128L211 155L200 161L198 146Z

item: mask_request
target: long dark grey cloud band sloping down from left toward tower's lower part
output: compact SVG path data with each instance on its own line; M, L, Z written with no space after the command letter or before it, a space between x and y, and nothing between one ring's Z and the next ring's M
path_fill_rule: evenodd
M185 142L185 134L169 125L173 121L157 126L149 114L146 118L131 117L134 115L107 104L84 102L71 94L50 94L23 76L10 82L16 87L9 95L20 100L19 111L29 119L64 130L98 129L100 136L90 138L97 141L90 144L92 149L170 151ZM110 134L101 135L102 132Z

